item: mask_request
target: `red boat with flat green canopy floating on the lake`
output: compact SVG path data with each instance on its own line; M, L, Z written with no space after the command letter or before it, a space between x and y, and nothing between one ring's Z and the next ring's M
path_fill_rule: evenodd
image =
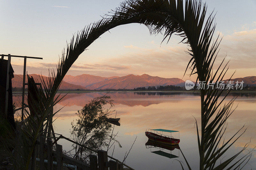
M160 133L159 133L160 132ZM161 132L169 132L171 136L163 135ZM175 130L166 129L148 129L145 132L146 137L151 141L156 141L162 144L176 145L180 143L180 139L175 139L172 137L172 132L179 132ZM180 136L180 134L179 134Z

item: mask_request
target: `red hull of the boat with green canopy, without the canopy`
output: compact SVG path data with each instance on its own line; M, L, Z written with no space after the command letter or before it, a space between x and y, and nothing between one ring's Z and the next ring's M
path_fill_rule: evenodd
M148 137L149 140L163 143L163 144L175 145L175 144L180 143L180 139L164 137L164 136L152 133L152 132L145 132L145 135L146 135L146 137Z

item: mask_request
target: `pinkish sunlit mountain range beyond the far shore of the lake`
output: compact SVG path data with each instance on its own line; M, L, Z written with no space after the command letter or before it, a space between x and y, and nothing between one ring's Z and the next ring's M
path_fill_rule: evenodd
M22 75L14 75L13 87L20 87L22 85ZM37 74L31 74L34 79L39 80ZM43 76L44 79L47 77ZM244 81L245 85L256 85L256 76L248 76L244 78L234 78L231 81ZM27 78L26 78L27 81ZM225 80L227 81L227 80ZM127 76L114 76L114 77L100 77L89 74L82 74L78 76L67 75L64 77L62 84L60 85L61 90L100 90L100 89L133 89L137 87L148 87L148 86L165 86L175 85L184 86L185 81L180 78L161 78L157 76L150 76L148 74Z

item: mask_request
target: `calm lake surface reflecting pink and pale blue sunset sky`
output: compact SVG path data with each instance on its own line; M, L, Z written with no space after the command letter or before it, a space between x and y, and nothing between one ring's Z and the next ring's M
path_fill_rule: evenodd
M56 110L65 106L57 115L54 122L55 133L70 137L70 122L76 119L75 113L81 110L89 100L105 95L103 92L69 93L56 106ZM243 146L250 142L248 149L256 145L256 93L232 93L226 101L238 95L234 108L238 107L228 119L226 139L232 136L244 124L247 127L244 135L227 152L231 156L239 152ZM126 159L126 164L134 169L181 169L179 161L185 163L178 149L173 151L161 150L179 156L167 158L153 153L157 148L146 148L148 138L145 136L146 129L171 129L180 131L180 149L187 158L192 169L198 169L198 146L195 128L195 119L200 122L200 96L198 93L185 92L109 92L107 95L115 102L117 117L121 118L121 126L115 126L118 131L117 140L122 148L115 146L113 157L124 159L125 152L129 151L136 136L137 139ZM200 124L200 123L199 123ZM179 134L172 133L178 138ZM63 149L71 150L71 143L60 139L59 144ZM113 150L108 152L112 154ZM245 154L244 152L243 154ZM225 158L224 158L225 159ZM223 159L223 160L224 160ZM237 159L236 159L237 160ZM256 154L252 154L249 164L244 169L256 168Z

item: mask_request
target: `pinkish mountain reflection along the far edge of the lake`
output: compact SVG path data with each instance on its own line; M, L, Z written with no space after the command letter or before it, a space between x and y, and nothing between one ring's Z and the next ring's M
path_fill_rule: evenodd
M65 94L61 94L63 97ZM91 93L68 93L59 104L62 106L81 106L92 100L95 97L108 95L115 101L116 105L122 104L126 106L144 106L147 107L152 104L159 104L163 102L178 102L180 100L186 100L191 96L200 96L199 93L195 92L91 92ZM224 96L224 95L223 95ZM256 92L232 92L229 98L237 97L243 99L255 98ZM255 100L253 100L255 102Z

